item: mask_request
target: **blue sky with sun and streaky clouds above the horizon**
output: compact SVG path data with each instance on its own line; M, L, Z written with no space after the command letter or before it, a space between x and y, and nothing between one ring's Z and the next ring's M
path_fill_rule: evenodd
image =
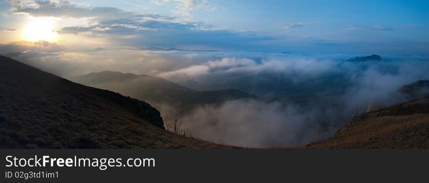
M0 53L429 54L428 0L0 0Z

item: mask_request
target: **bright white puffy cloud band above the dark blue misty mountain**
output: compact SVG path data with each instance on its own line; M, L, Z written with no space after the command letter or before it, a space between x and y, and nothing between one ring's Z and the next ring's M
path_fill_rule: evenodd
M246 57L223 57L218 60L199 62L186 68L160 73L157 76L173 81L183 81L187 79L212 78L216 75L246 75L248 73L263 74L269 72L294 75L292 81L299 82L302 80L301 75L315 77L321 73L333 71L336 68L335 64L330 60L303 59L302 57L292 57L288 61L280 58L255 61ZM201 70L199 71L203 72L195 74L195 67L200 68Z

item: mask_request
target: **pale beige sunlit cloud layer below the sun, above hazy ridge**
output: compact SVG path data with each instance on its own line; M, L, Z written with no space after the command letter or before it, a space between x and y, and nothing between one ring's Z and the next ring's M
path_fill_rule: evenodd
M0 50L3 54L23 52L25 49L31 51L13 58L63 77L106 70L156 75L187 66L185 62L181 62L184 61L183 59L152 51L104 50L94 52L94 48L92 48L88 51L62 52L60 47L44 49L36 47L34 44L31 46L20 45L19 43L0 44ZM183 71L190 72L190 70Z

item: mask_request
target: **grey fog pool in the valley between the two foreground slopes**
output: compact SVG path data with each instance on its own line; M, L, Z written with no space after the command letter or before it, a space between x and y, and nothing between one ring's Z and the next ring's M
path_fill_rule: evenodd
M297 106L279 102L233 100L199 107L180 120L193 136L211 142L244 147L303 146L335 131L317 124L315 117L323 112L318 110L302 113Z

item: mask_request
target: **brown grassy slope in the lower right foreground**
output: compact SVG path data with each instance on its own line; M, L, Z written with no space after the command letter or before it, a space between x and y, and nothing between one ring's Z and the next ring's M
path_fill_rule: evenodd
M307 148L429 148L429 99L360 116L333 137Z

